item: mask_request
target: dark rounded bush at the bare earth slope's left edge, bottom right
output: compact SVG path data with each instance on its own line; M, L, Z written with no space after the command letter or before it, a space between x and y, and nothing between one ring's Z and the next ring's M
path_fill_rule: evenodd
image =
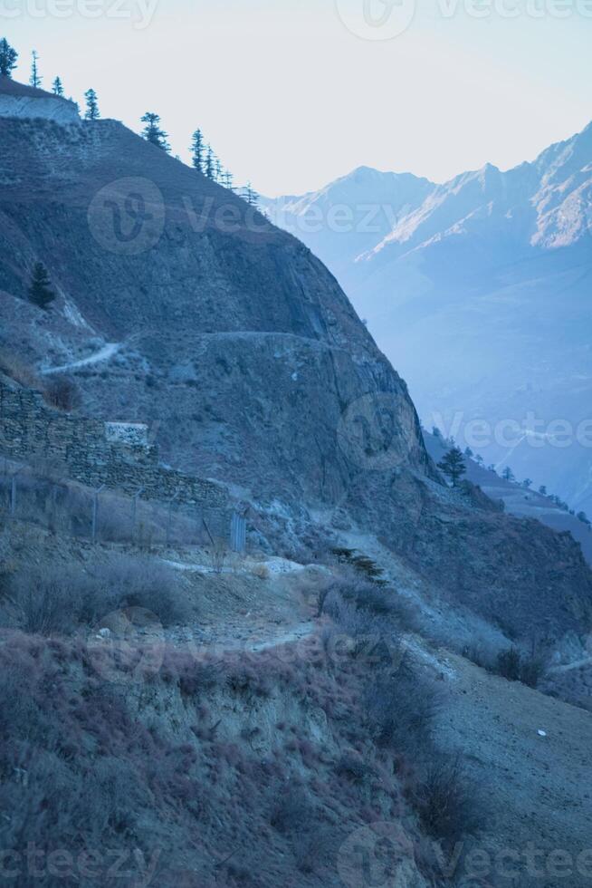
M434 758L412 795L425 830L444 845L454 845L479 828L479 803L460 758Z

